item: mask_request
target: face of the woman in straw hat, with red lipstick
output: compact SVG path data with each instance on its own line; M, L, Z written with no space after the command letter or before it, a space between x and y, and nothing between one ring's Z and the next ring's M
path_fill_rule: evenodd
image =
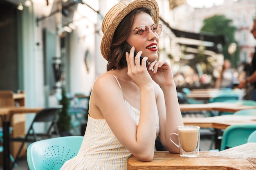
M126 42L130 46L134 46L136 51L142 51L143 57L148 57L148 61L157 60L157 44L159 42L159 36L155 35L150 29L147 37L141 37L138 33L137 26L146 25L151 28L154 24L152 18L148 13L141 12L135 16L135 20L131 26L130 34L126 39ZM135 31L132 31L135 30Z

